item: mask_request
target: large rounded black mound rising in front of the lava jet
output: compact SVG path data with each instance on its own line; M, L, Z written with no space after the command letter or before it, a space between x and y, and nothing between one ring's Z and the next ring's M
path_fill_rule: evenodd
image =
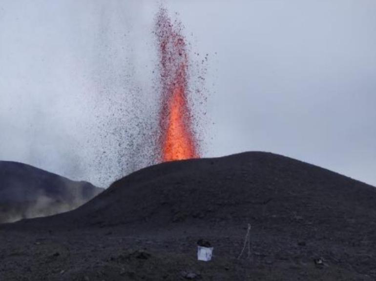
M313 225L352 236L376 226L375 202L375 187L281 155L246 152L139 170L64 218L79 226Z

